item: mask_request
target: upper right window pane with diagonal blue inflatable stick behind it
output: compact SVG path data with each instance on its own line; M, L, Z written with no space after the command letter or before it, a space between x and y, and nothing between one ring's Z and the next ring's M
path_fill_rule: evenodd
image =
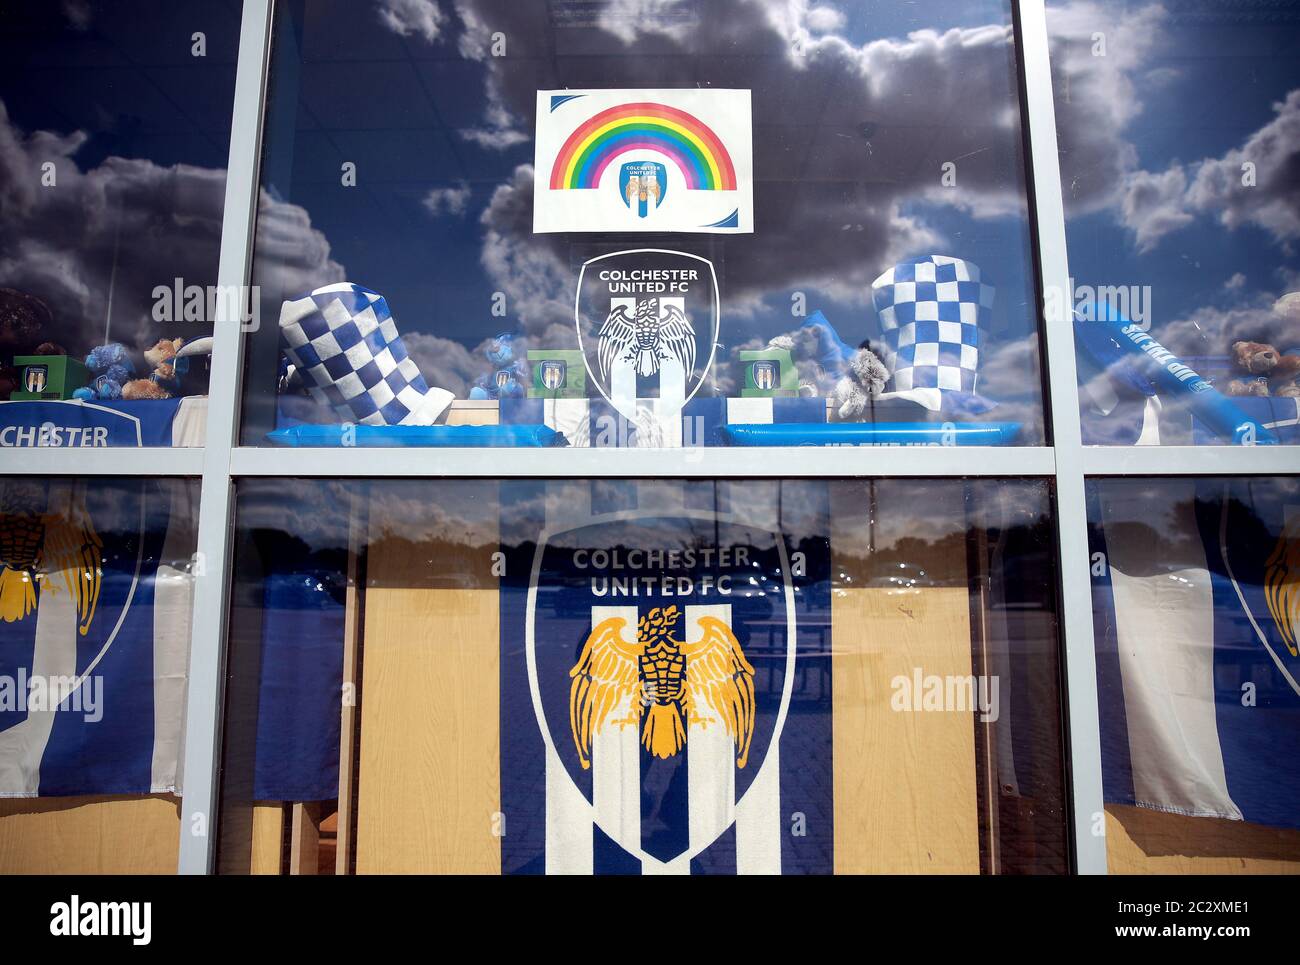
M1084 442L1300 441L1300 4L1048 29Z

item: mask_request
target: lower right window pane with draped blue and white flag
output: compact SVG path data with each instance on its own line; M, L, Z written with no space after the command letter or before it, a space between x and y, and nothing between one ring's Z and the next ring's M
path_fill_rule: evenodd
M1300 480L1088 499L1110 870L1300 870Z

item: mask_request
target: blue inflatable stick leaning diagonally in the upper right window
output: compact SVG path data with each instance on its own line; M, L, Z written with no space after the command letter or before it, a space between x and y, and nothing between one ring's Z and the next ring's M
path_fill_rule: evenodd
M1109 304L1088 303L1075 317L1075 343L1108 372L1140 376L1160 394L1182 402L1214 434L1234 445L1275 446L1278 437L1251 419L1186 362ZM1088 316L1092 316L1091 319ZM1132 375L1130 375L1132 373Z

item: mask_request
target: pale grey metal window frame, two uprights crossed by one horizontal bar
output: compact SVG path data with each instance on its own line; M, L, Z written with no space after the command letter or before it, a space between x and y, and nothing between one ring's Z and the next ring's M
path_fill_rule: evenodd
M231 117L218 282L247 286L260 192L263 121L270 68L274 0L244 0ZM1027 186L1039 277L1044 290L1067 291L1069 264L1044 0L1013 3ZM1095 834L1102 809L1097 691L1092 639L1084 484L1089 476L1214 476L1300 473L1300 447L1121 447L1080 442L1074 336L1050 299L1044 317L1050 446L801 449L793 464L771 450L497 450L261 449L238 445L244 338L238 319L218 316L203 449L25 449L0 462L5 476L199 476L198 550L183 748L178 871L205 874L216 857L220 736L234 484L242 476L283 477L890 477L1039 476L1056 484L1061 564L1074 869L1105 873L1105 838ZM225 302L225 299L222 299ZM228 306L222 304L225 311ZM195 834L202 825L204 834Z

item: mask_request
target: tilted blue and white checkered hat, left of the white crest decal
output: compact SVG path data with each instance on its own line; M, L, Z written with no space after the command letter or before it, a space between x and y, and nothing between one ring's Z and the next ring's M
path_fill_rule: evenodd
M285 302L280 341L312 398L344 421L429 425L451 403L407 355L384 295L360 285L343 281Z

